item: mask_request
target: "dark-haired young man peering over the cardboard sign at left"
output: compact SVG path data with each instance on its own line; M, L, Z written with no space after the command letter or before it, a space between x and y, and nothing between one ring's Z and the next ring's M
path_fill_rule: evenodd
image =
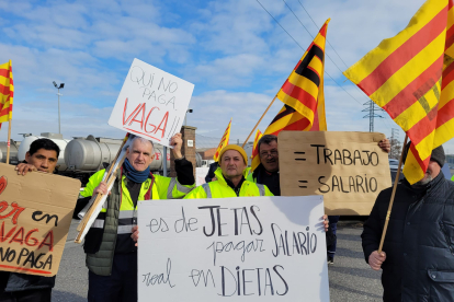
M25 161L18 164L18 175L39 171L54 173L60 149L49 139L37 139L25 153ZM55 286L54 277L42 277L19 272L0 271L0 301L1 302L47 302L52 298Z

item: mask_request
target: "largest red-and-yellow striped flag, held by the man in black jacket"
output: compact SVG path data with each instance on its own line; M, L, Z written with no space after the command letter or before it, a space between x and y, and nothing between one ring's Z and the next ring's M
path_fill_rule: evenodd
M453 1L428 0L404 31L344 72L410 138L410 184L424 176L432 150L454 137L453 25Z

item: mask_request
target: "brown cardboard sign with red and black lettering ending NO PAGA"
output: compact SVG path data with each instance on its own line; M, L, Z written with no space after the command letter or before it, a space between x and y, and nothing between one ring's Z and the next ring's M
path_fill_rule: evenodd
M0 270L57 274L80 182L0 163Z

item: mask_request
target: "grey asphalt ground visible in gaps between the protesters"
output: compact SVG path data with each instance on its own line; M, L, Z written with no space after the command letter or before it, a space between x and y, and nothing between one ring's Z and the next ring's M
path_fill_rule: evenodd
M72 220L64 257L53 291L53 301L87 301L88 270L82 247L73 243L78 220ZM361 248L362 225L341 221L338 225L338 251L329 266L330 295L333 302L382 301L379 271L368 268Z

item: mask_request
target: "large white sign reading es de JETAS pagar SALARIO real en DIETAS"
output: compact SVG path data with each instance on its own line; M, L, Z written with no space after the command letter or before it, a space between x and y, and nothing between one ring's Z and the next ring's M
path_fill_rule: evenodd
M329 301L321 196L138 204L139 301Z

